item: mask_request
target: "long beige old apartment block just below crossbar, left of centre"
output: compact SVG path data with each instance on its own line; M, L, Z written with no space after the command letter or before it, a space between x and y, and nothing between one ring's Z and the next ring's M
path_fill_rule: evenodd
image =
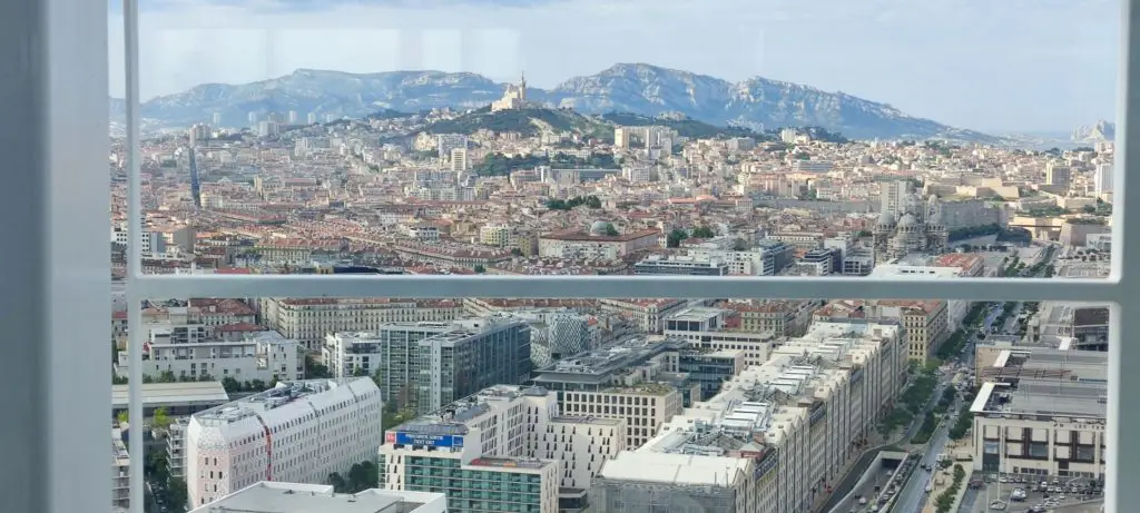
M376 332L389 323L449 321L463 317L450 300L262 298L261 321L308 351L320 351L325 335Z

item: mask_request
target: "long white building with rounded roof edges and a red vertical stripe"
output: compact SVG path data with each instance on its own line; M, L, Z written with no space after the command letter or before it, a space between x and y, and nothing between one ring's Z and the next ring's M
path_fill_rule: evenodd
M383 441L368 377L280 382L197 413L186 430L186 484L201 506L260 481L321 483L372 461Z

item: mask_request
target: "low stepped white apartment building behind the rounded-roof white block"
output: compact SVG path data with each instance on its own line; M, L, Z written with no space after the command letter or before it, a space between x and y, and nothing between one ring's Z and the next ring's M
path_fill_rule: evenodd
M299 358L296 341L255 325L160 325L150 327L142 375L157 377L171 373L177 378L291 381L304 377L304 364ZM129 364L128 352L120 351L115 374L125 377Z

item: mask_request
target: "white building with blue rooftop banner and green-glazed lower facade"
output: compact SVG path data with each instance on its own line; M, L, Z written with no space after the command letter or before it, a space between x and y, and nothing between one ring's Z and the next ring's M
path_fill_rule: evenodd
M565 465L538 457L554 451L549 445L538 450L537 440L545 431L540 423L557 409L554 394L542 388L499 385L400 424L380 447L380 486L441 491L450 512L556 513ZM571 459L594 447L579 445Z

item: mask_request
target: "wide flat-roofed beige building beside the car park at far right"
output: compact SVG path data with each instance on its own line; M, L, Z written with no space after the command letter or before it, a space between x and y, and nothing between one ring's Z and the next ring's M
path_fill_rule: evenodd
M984 370L975 470L1104 479L1107 352L1010 347Z

